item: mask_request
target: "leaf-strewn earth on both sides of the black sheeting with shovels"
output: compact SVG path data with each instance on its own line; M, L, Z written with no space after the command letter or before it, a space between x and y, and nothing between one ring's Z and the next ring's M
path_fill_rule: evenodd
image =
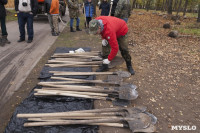
M82 22L84 19L81 19ZM181 25L164 15L146 11L133 11L129 18L129 50L132 56L134 76L124 79L125 82L138 86L139 97L130 106L143 105L158 118L156 124L158 133L179 133L172 131L171 126L196 126L195 131L181 133L198 133L200 130L200 38L199 25L196 19L181 20ZM171 24L171 29L163 29L165 23ZM190 35L170 38L172 29L180 31L193 27L197 33L184 31L180 34ZM81 28L84 28L83 24ZM192 35L192 36L191 36ZM70 33L67 26L53 46L42 57L32 70L19 91L17 91L6 109L7 121L15 107L26 98L30 90L37 84L39 73L57 47L91 47L101 49L100 36L90 36L81 32ZM94 68L95 69L95 68ZM126 70L125 63L110 71ZM104 77L97 77L98 79ZM109 104L99 101L96 107L107 107ZM97 105L101 104L101 106ZM102 133L128 133L127 130L100 128Z

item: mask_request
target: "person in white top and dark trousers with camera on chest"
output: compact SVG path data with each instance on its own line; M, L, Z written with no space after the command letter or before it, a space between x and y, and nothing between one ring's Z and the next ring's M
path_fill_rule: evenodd
M18 16L18 24L20 31L20 39L18 42L25 41L25 24L27 23L28 41L33 41L33 17L36 15L38 9L37 0L15 0L15 11Z

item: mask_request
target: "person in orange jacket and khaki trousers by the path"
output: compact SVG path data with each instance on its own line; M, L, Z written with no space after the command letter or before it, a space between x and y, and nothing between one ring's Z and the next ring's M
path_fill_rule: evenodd
M45 0L52 36L59 35L59 0Z

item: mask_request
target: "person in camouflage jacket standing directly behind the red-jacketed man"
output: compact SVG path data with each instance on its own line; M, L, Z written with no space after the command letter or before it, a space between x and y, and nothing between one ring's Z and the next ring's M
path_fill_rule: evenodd
M123 19L127 23L130 15L131 15L130 0L119 0L117 3L117 7L115 9L114 16Z

